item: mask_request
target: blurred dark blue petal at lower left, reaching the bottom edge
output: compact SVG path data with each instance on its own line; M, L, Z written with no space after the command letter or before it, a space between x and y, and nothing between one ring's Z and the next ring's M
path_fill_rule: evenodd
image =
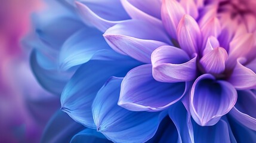
M73 135L84 129L84 126L73 121L63 111L57 111L48 122L41 142L69 142Z

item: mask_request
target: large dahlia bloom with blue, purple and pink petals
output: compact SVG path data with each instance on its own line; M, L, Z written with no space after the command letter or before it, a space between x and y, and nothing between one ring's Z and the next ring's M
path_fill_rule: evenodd
M116 52L81 56L109 47L94 41L101 32L92 43L77 36L86 31L66 35L61 50L72 48L57 50L57 67L73 76L61 109L113 142L256 141L255 2L246 2L69 1ZM91 129L78 135L101 135Z

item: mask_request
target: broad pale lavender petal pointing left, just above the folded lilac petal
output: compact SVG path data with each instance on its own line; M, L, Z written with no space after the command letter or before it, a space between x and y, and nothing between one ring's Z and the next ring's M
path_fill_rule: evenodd
M143 63L150 63L152 52L169 42L163 29L138 20L116 24L104 33L104 38L115 51Z

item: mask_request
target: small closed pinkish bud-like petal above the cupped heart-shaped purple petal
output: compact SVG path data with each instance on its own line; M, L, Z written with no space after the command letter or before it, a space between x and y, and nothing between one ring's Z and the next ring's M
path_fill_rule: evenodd
M200 63L206 73L219 74L225 70L227 57L226 49L217 47L212 49L211 52L203 55Z

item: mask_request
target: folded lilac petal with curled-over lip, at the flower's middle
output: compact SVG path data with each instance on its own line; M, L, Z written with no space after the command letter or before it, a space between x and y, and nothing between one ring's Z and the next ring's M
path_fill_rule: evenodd
M161 46L152 53L153 77L159 82L185 82L196 77L196 57L174 46Z

